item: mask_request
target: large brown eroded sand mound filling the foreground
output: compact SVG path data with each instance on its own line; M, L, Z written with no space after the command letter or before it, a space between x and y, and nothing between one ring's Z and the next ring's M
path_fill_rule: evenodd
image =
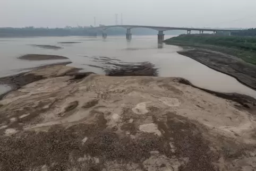
M256 169L255 116L177 78L58 76L0 104L0 170Z

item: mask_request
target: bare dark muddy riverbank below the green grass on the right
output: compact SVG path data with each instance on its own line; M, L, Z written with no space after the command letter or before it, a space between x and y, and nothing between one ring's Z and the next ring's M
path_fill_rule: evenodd
M184 50L177 52L178 54L190 57L213 70L232 76L245 86L256 90L256 65L233 56L237 54L237 49L232 51L229 48L216 45L203 45L197 41L186 41L184 37L190 38L190 35L170 38L165 40L165 42L169 45L184 47ZM193 37L195 36L192 36L192 39Z

